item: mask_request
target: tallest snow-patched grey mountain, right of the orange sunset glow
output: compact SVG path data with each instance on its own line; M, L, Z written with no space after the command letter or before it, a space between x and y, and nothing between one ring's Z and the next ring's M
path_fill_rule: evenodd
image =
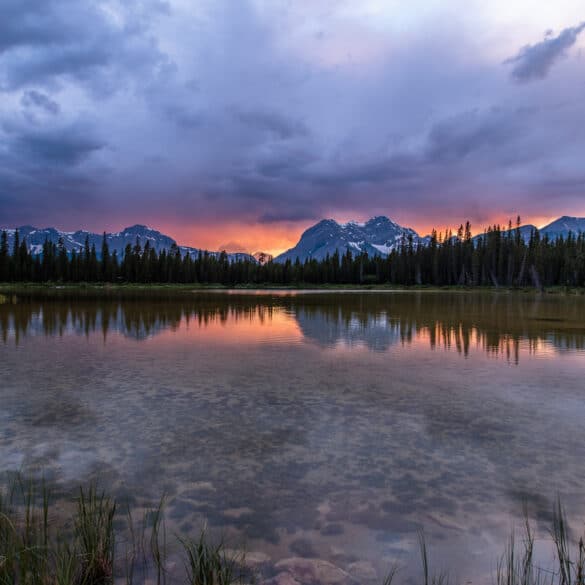
M414 230L404 228L384 216L373 217L365 223L338 223L333 219L324 219L306 230L294 248L277 256L275 260L323 260L327 254L331 256L336 250L340 254L351 250L354 254L367 252L370 256L387 256L400 246L404 238L410 236L416 245L428 241Z

